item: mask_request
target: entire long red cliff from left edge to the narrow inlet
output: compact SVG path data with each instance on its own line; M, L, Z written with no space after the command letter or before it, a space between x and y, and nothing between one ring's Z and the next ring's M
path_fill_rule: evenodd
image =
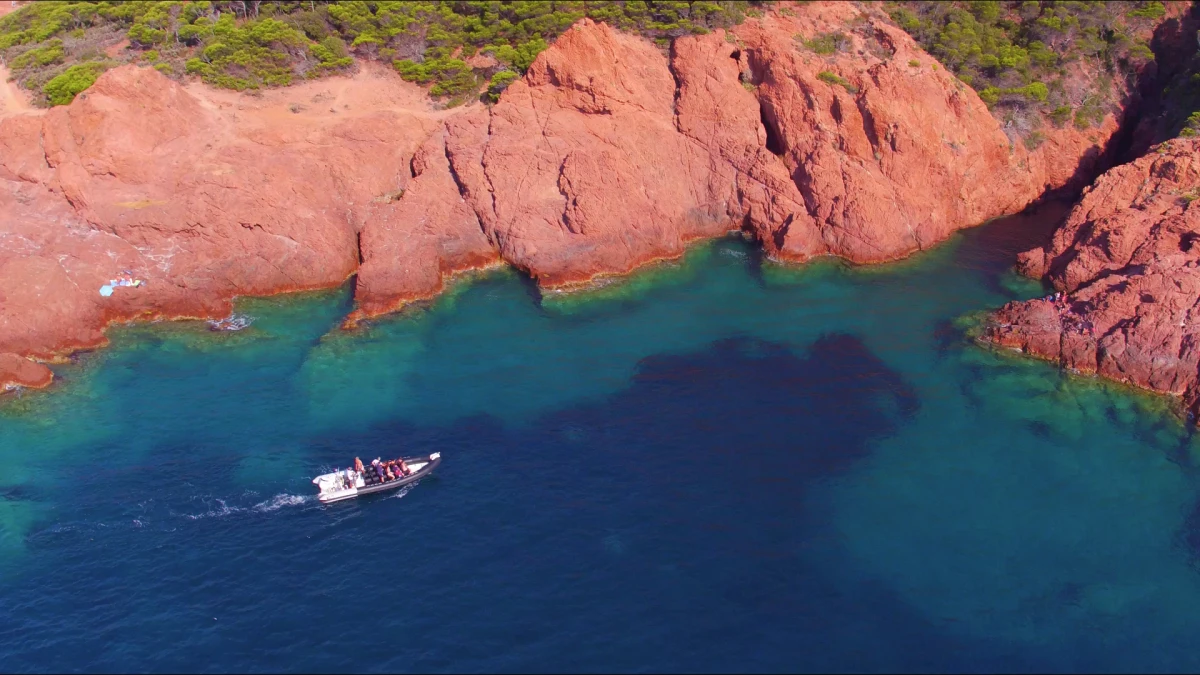
M841 50L803 46L833 30ZM355 324L500 261L568 286L734 229L781 259L894 259L1087 175L1115 129L1014 144L876 8L839 2L670 54L583 20L490 108L368 66L258 96L125 66L0 120L0 352L358 273ZM145 283L100 294L122 274Z

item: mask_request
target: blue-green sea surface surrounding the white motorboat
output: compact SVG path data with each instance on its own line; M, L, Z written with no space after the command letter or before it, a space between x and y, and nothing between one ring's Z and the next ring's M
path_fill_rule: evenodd
M114 329L0 405L0 671L1195 671L1192 432L971 339L1061 213L872 268L493 271L353 334L349 287Z

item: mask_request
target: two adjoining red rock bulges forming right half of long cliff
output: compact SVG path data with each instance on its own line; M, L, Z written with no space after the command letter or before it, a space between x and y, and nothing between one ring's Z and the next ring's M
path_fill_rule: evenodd
M832 56L796 40L847 25ZM1013 145L907 34L814 4L678 40L670 64L583 20L448 148L500 255L560 286L734 228L786 259L899 258L1064 185L1115 129Z

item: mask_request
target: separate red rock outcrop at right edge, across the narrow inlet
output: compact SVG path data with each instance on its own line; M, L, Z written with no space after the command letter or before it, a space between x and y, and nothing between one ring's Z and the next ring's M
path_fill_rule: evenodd
M986 336L1195 406L1200 142L1170 141L1088 189L1045 249L1022 253L1062 301L1009 303Z

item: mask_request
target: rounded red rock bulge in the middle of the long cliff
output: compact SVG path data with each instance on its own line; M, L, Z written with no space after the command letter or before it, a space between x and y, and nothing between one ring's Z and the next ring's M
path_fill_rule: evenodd
M674 126L649 42L583 20L491 110L450 126L450 159L508 262L560 286L678 256L737 227L708 153Z

